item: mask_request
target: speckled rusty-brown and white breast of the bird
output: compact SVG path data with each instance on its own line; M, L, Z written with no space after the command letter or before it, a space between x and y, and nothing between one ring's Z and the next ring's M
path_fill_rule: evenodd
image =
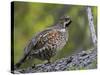
M68 40L66 32L55 31L49 34L47 45L52 49L61 50Z

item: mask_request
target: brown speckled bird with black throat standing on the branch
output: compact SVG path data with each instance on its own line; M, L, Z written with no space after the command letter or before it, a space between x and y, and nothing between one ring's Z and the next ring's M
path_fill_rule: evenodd
M68 27L72 20L69 16L61 17L55 25L37 33L24 48L24 55L14 65L18 69L27 59L37 58L47 60L55 56L68 42Z

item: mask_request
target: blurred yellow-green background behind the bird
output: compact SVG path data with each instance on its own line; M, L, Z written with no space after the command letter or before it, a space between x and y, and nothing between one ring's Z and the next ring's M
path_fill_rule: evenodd
M97 33L97 7L92 6L91 8ZM25 46L36 33L54 25L64 15L72 19L69 27L69 41L52 58L52 61L93 47L86 6L14 2L14 63L21 59ZM44 61L35 59L33 62L43 63Z

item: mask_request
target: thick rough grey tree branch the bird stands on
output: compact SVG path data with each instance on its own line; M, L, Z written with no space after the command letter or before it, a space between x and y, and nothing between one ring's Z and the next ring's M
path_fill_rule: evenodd
M14 73L36 73L36 72L52 72L65 71L77 69L91 69L93 62L96 62L97 51L96 48L82 51L75 55L62 58L50 64L38 64L36 67L29 67L27 69L15 70ZM93 68L93 67L92 67Z

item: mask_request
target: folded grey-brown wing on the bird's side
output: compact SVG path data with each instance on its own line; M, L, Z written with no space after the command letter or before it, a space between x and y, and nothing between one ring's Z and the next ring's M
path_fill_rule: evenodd
M28 45L24 49L24 54L28 54L31 50L36 50L40 49L44 46L46 41L48 40L46 36L48 35L47 33L52 32L52 29L46 29L34 36L32 40L29 41Z

